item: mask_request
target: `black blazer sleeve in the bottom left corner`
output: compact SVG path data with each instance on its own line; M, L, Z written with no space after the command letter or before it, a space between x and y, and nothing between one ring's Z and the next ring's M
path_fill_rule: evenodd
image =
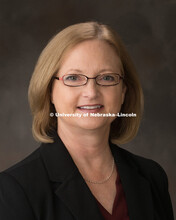
M36 220L22 187L5 172L0 173L0 219Z

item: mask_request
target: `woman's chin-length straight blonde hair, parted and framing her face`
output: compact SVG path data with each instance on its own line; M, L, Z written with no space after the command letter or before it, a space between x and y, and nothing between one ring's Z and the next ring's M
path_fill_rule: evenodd
M52 130L57 130L57 118L50 117L50 112L55 112L50 93L53 76L58 71L64 54L78 43L90 39L106 41L116 50L122 62L127 87L121 112L137 114L137 117L117 117L111 124L110 139L124 144L137 134L143 112L143 93L135 67L114 30L98 22L85 22L71 25L59 32L38 59L28 91L33 115L32 132L37 141L53 142L50 134Z

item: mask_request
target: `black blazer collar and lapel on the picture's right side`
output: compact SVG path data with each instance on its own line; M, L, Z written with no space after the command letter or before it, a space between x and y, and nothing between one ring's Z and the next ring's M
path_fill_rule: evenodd
M111 145L122 186L125 192L130 220L153 220L153 202L149 183L132 163L129 152Z

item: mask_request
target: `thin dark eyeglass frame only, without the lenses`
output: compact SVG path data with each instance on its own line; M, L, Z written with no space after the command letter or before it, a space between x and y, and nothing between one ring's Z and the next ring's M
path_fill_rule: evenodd
M118 82L118 83L116 83L116 84L114 84L114 85L101 85L101 84L97 83L97 81L96 81L97 77L98 77L98 76L103 76L103 75L106 75L106 74L99 74L99 75L97 75L97 76L95 76L95 77L88 77L88 76L86 76L86 75L84 75L84 74L65 74L65 75L63 75L62 77L53 76L53 79L61 80L61 81L63 81L63 83L64 83L63 77L64 77L64 76L67 76L67 75L81 75L81 76L85 76L85 78L87 79L86 82L85 82L85 84L83 84L83 85L78 85L78 86L71 86L71 85L67 85L67 84L64 83L65 86L69 86L69 87L85 86L85 85L87 84L87 82L88 82L89 79L95 79L96 84L99 85L99 86L116 86L116 85L118 85L118 84L120 83L120 79L124 80L124 76L121 76L121 75L118 74L118 73L111 73L111 74L114 74L114 75L118 75L118 76L119 76L119 82Z

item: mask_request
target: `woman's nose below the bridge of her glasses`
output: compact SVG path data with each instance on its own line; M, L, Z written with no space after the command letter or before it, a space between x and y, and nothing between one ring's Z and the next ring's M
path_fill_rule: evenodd
M95 79L88 79L86 85L83 86L83 96L91 99L95 99L99 95L98 85Z

